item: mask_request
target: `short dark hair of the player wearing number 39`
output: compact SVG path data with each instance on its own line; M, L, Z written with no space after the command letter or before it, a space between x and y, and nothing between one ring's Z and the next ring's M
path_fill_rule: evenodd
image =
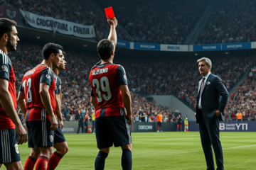
M102 60L110 58L113 50L114 45L110 40L103 39L97 44L97 52Z

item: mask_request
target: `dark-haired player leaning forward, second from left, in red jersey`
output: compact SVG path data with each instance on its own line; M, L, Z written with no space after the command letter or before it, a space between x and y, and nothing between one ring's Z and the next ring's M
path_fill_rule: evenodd
M21 82L18 103L26 113L28 147L31 147L31 154L24 166L26 170L33 169L35 164L37 170L46 169L53 153L53 131L58 129L58 122L55 118L56 85L52 69L60 66L62 57L62 46L46 44L43 47L43 62L26 72Z

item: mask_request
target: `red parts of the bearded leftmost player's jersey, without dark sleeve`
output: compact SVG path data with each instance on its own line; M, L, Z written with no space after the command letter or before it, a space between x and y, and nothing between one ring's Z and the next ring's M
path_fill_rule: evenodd
M17 110L17 98L16 98L16 87L15 87L15 74L14 67L11 67L11 72L9 76L9 92L11 94L12 101L14 103L14 108ZM4 129L15 129L14 122L11 120L9 115L4 111L3 106L0 104L0 130Z

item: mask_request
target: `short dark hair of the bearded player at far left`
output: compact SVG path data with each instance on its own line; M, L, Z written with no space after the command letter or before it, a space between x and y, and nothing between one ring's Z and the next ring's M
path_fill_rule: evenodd
M10 36L11 31L13 31L12 26L17 26L17 23L8 18L0 18L0 37L5 33Z

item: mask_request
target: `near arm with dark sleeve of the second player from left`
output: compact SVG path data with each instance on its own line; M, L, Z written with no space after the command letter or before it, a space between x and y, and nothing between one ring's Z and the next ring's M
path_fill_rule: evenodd
M57 130L58 122L53 113L53 106L50 103L50 84L53 82L53 72L49 70L50 68L43 69L40 73L40 86L39 86L39 94L41 96L41 100L43 106L45 106L47 113L50 115L50 129Z

